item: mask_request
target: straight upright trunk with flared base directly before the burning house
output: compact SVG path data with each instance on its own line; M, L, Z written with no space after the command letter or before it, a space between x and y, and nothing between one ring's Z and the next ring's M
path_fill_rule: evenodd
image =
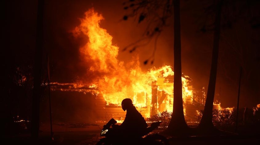
M184 135L187 133L187 123L183 113L182 81L181 81L181 41L180 41L180 0L173 1L174 6L174 101L173 113L168 128L168 134Z

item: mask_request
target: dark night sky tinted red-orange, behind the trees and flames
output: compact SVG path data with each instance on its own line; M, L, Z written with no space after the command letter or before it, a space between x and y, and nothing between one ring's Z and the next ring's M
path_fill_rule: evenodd
M145 21L138 24L133 18L122 20L126 14L123 2L125 1L45 0L44 54L48 54L50 58L52 82L73 82L84 75L88 65L82 64L79 57L82 40L75 39L71 31L80 24L79 18L84 16L84 12L92 7L105 18L100 27L107 30L113 37L113 43L119 47L120 61L127 62L132 55L138 54L144 71L164 64L173 66L173 17L167 20L169 27L165 27L158 38L153 64L142 63L152 54L153 41L134 53L122 51L141 37L146 26ZM252 24L259 23L258 6L252 8L251 21L235 19L235 13L232 13L234 16L231 13L223 16L225 20L232 20L231 25L221 30L219 43L216 94L220 92L223 107L236 106L241 64L243 76L240 105L254 107L260 103L260 33L259 26L252 28ZM203 12L203 7L204 5L194 1L181 2L182 72L193 79L191 85L196 90L203 86L207 89L213 48L213 31L200 31L206 17L210 17ZM5 26L2 27L5 38L1 49L4 62L2 67L8 68L6 66L11 63L31 65L36 40L37 1L6 1L2 8L5 10L2 22ZM229 7L223 11L227 11L227 8Z

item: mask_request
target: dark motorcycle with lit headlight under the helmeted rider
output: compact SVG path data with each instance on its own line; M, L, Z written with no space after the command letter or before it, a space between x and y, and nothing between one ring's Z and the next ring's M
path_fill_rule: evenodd
M146 128L145 132L142 133L142 137L138 139L121 139L120 137L113 136L109 134L113 126L116 126L117 121L115 119L110 119L107 124L103 126L100 136L102 137L96 145L125 145L125 144L151 144L151 145L169 145L169 141L163 135L159 133L151 133L156 129L162 121L153 122L149 127ZM127 132L128 130L124 130Z

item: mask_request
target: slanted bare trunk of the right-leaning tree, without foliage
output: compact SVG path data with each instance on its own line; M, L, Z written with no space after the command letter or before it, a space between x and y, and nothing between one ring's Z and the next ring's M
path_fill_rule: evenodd
M211 60L211 68L210 68L210 80L208 85L205 108L203 111L200 124L198 126L198 128L200 128L200 131L205 131L204 133L210 133L213 130L216 130L212 122L212 113L213 113L213 101L214 101L215 86L216 86L218 54L219 54L219 37L220 37L222 2L223 0L220 0L216 5L217 11L215 17L215 30L213 36L213 51L212 51L212 60Z

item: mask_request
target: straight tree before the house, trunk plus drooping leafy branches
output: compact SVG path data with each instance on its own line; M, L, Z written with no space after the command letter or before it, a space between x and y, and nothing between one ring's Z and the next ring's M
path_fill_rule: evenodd
M161 3L161 4L158 5L158 3ZM163 10L160 9L161 5L163 6L162 7ZM145 9L147 11L151 11L151 10L156 11L159 9L158 15L160 17L153 18L154 21L149 23L148 30L149 30L150 26L153 24L153 22L156 22L156 24L158 24L158 25L156 25L156 27L154 28L154 30L152 31L151 34L146 33L146 34L148 34L148 38L154 37L156 32L160 32L159 30L161 30L161 28L163 26L166 26L165 21L171 15L168 13L171 13L171 9L173 6L173 9L174 9L174 49L173 49L173 52L174 52L174 91L173 91L174 101L173 101L173 113L172 113L171 121L168 125L168 128L164 131L164 133L171 134L171 135L186 135L189 127L184 118L183 99L182 99L180 0L173 0L173 3L170 3L170 1L168 1L168 0L166 0L166 1L141 1L140 3L139 2L130 3L129 7L133 7L133 6L136 6L132 10L133 13L130 15L125 15L123 17L124 20L127 20L129 16L136 16L139 14L138 23L140 23L141 21L143 21L146 18L147 13L144 11L138 13L139 9L142 9L142 10ZM128 7L125 7L125 9L128 9ZM163 11L163 13L161 14L160 11ZM165 13L164 13L164 11L165 11ZM147 32L149 32L149 31L147 31ZM157 33L157 34L160 34L160 33ZM135 46L134 50L136 49L136 45L138 45L139 42L140 42L140 40L131 44L131 46L132 45ZM128 48L128 47L126 47L126 48ZM148 62L148 60L145 61L145 64Z

